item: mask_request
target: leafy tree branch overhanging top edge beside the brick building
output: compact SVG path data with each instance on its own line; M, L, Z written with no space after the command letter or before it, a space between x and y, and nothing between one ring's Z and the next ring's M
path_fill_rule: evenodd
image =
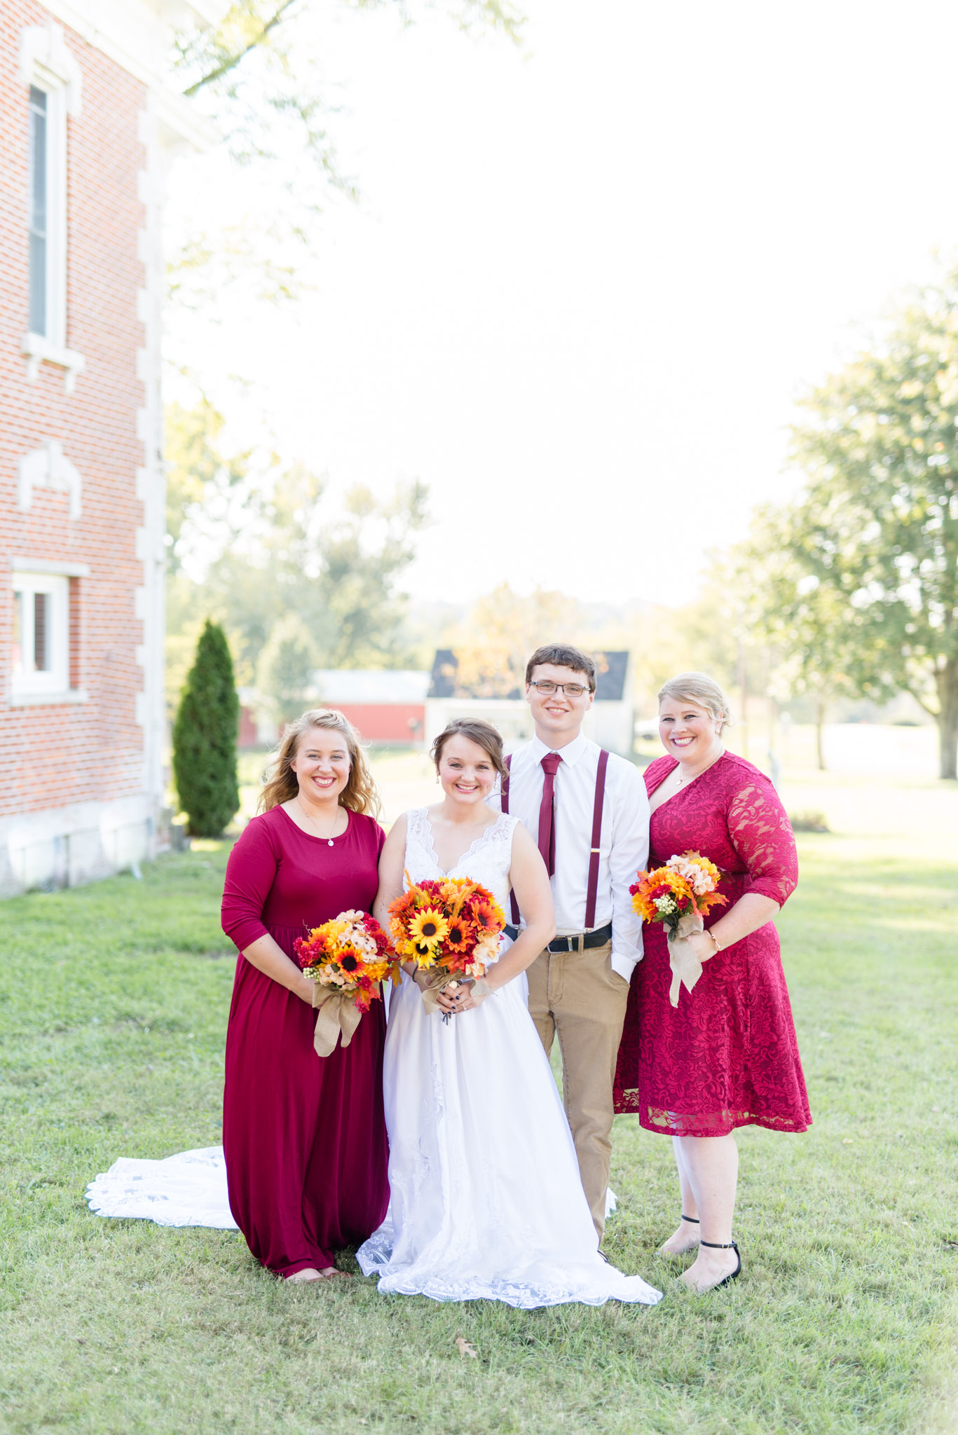
M392 11L402 24L441 10L468 34L498 33L513 43L524 24L511 0L233 0L218 23L181 29L174 80L213 121L256 198L240 222L190 217L171 245L175 303L203 307L237 283L257 298L296 297L307 287L297 268L316 215L333 194L358 198L332 133L340 100L323 34L336 10Z

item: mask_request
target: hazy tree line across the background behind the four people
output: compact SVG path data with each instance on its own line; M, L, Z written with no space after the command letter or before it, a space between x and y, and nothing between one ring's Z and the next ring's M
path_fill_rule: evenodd
M277 718L303 706L316 667L399 667L457 650L477 690L521 682L523 654L564 637L629 647L643 706L682 666L745 693L806 699L819 728L837 699L911 693L958 765L958 271L902 303L880 342L806 400L799 497L757 511L681 610L592 608L508 585L434 620L418 650L402 580L427 522L421 484L386 501L325 484L274 453L223 451L205 402L174 406L169 433L169 689L178 699L208 614L243 683ZM197 564L207 554L205 570ZM211 555L211 557L210 557Z

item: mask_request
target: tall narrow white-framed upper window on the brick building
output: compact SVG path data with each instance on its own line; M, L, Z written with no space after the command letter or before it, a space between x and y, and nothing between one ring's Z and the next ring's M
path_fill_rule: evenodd
M80 69L53 20L20 39L27 86L29 320L27 379L43 362L66 370L72 393L83 356L66 347L66 116L80 113Z

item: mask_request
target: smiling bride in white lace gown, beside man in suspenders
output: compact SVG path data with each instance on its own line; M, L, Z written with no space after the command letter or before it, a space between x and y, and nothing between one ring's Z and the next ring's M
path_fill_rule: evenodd
M376 916L412 883L470 877L526 916L487 976L427 1015L408 971L392 993L383 1063L389 1213L358 1254L379 1290L434 1300L655 1304L661 1292L599 1254L569 1124L526 1006L524 970L554 934L549 877L521 824L485 805L504 773L488 723L450 723L434 746L444 799L394 825ZM424 973L417 974L425 984Z

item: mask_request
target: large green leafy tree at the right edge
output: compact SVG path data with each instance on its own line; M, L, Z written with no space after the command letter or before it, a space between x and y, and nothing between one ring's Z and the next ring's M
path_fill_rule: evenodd
M958 270L899 307L883 342L807 399L809 476L789 554L840 631L846 676L909 692L958 762Z

